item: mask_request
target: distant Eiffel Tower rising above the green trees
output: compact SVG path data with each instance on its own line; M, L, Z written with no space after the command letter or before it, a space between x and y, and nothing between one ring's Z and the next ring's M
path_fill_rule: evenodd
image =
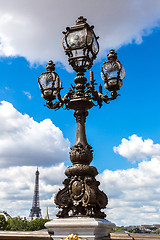
M29 218L31 220L36 218L42 218L40 204L39 204L39 171L37 168L37 171L35 173L36 179L35 179L35 187L34 187L34 196L33 196L33 204L32 208L30 210Z

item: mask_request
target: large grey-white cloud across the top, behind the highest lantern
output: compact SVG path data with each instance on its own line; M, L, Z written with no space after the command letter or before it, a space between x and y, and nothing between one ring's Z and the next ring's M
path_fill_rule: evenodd
M23 56L31 63L66 63L62 31L83 15L100 36L101 55L109 48L141 43L158 26L159 0L6 0L0 1L0 55Z

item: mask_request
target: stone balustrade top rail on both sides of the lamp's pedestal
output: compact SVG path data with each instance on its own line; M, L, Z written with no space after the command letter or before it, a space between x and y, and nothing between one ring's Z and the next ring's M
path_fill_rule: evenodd
M160 240L156 234L111 233L102 240ZM51 240L47 230L35 232L0 231L0 240Z

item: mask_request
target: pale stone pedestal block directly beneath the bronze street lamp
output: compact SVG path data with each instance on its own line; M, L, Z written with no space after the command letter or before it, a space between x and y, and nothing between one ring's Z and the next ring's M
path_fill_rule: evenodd
M49 221L45 227L52 231L50 236L53 240L65 239L70 234L76 234L81 239L102 240L115 224L99 218L69 217Z

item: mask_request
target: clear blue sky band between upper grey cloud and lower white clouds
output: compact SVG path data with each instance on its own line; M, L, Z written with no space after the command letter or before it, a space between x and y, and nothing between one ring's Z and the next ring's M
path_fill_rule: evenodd
M94 107L89 112L87 138L94 148L93 164L100 172L106 167L111 170L133 167L132 163L113 151L113 146L118 146L122 138L137 134L159 142L159 39L160 29L156 27L149 36L143 37L141 44L132 43L117 50L126 71L120 96L108 105L103 104L100 110ZM103 84L100 69L104 61L105 58L97 61L92 68L98 84ZM0 70L1 100L12 103L19 112L27 113L35 121L50 118L73 145L76 132L73 111L60 109L55 112L44 107L45 100L41 98L37 79L45 72L45 64L31 67L23 57L1 57ZM56 72L64 86L62 93L65 94L76 74L67 72L63 66L57 67ZM31 99L25 92L30 93Z

